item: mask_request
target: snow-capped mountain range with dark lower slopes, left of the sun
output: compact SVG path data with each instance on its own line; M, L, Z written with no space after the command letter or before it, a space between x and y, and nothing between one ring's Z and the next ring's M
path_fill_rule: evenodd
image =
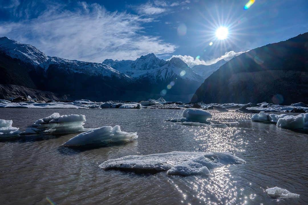
M164 96L167 101L188 102L203 81L177 58L164 61L150 53L135 61L83 62L50 57L7 37L0 38L0 72L0 84L95 101Z

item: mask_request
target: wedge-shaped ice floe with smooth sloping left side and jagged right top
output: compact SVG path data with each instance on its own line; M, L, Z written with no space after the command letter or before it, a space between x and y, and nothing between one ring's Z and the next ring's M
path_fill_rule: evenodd
M109 144L127 142L138 138L137 132L123 132L119 125L104 126L80 133L64 143L64 146L82 146L87 144Z

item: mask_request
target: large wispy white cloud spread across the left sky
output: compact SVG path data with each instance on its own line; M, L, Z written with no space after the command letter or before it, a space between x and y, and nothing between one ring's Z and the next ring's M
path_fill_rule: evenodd
M0 36L34 45L50 56L102 62L172 53L176 45L147 36L142 25L153 19L108 12L99 4L79 3L74 11L50 6L35 19L0 25Z

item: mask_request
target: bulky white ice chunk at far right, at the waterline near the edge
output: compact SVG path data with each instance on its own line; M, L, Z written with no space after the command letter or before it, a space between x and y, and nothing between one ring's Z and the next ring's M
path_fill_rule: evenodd
M279 118L277 121L278 127L290 128L290 129L304 128L304 124L305 124L304 113L297 116L287 115L285 117Z

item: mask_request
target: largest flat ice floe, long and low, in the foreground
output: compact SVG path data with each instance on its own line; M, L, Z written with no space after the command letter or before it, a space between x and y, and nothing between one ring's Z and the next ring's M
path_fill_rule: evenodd
M227 164L243 164L244 160L226 152L167 152L150 155L129 155L107 160L103 169L158 172L167 175L209 175L209 170Z

